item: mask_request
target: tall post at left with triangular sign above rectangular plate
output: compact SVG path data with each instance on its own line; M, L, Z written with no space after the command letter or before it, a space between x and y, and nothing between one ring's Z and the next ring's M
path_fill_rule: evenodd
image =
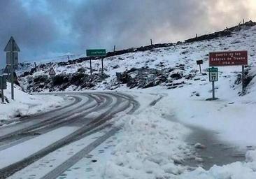
M17 46L13 37L10 37L6 48L4 48L4 52L6 52L6 63L10 65L10 78L11 78L11 99L14 99L14 68L17 66L18 58L17 52L20 52L20 48Z

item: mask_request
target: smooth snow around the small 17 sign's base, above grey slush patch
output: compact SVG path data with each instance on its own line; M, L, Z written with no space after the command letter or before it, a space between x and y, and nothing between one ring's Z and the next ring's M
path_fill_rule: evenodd
M201 82L204 85L204 82ZM199 85L201 85L199 84ZM237 96L234 90L228 89L228 80L216 83L218 90L217 101L206 101L211 97L211 84L206 87L183 87L183 89L169 92L169 100L173 101L173 110L178 120L188 124L218 131L220 138L236 145L256 145L254 116L256 115L255 102L250 93L246 96ZM191 96L198 92L200 96ZM175 95L175 96L174 96Z

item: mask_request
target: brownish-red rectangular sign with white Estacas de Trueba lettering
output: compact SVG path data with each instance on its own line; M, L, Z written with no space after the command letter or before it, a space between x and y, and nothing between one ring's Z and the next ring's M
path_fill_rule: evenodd
M247 51L210 52L209 54L209 66L234 66L247 64Z

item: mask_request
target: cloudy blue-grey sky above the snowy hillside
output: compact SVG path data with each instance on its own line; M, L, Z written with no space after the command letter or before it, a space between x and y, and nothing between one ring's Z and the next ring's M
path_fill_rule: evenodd
M28 61L184 41L243 18L255 20L255 0L0 0L0 65L10 36Z

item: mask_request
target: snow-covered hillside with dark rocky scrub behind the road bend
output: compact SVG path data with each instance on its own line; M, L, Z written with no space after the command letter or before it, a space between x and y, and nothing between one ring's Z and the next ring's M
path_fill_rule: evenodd
M173 89L198 84L198 81L207 83L209 52L248 50L250 58L249 66L246 68L246 82L249 84L255 76L255 36L256 27L242 27L241 31L232 31L231 35L211 40L178 43L166 48L152 48L144 52L107 57L104 59L104 75L101 75L100 60L92 61L92 76L89 61L75 64L41 64L36 72L23 73L20 83L28 92L113 90L118 87L147 88L156 85L164 89ZM199 73L196 64L198 59L204 61L202 74ZM48 76L51 67L57 72L57 76L52 79ZM121 73L119 80L116 73ZM229 78L230 89L241 86L240 77L241 66L220 68L220 83ZM247 92L253 90L253 81L249 84Z

